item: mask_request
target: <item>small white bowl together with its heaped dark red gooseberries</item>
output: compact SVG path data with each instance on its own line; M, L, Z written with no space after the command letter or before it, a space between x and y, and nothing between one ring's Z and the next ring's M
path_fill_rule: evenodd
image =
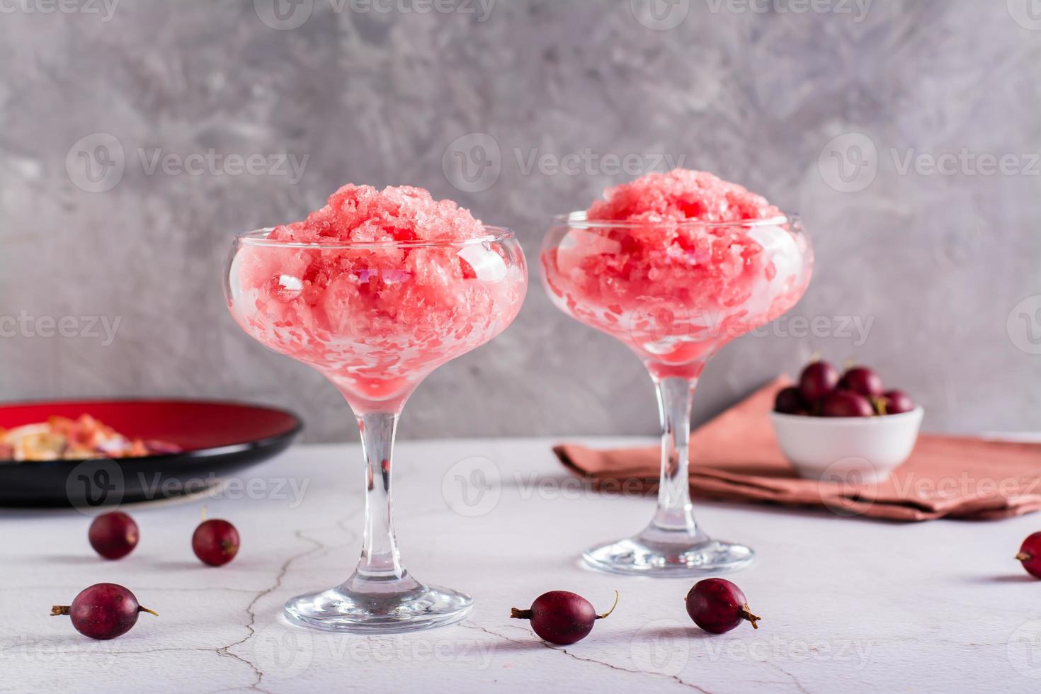
M777 394L773 431L799 477L875 484L910 456L924 410L866 366L815 361Z

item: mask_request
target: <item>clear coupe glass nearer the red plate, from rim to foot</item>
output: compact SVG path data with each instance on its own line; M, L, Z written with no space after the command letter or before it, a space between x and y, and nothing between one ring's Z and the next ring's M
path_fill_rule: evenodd
M516 316L528 286L508 229L460 241L301 243L238 235L225 273L239 327L321 371L347 399L364 448L361 560L339 586L285 605L293 622L400 633L464 618L468 595L425 585L402 566L390 514L391 449L405 401L434 368L487 342Z

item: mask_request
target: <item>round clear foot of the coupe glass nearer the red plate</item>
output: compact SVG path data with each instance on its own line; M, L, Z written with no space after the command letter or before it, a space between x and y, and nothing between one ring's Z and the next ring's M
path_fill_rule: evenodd
M469 595L424 586L402 592L353 592L337 586L285 603L294 624L340 634L403 634L460 621L469 614Z

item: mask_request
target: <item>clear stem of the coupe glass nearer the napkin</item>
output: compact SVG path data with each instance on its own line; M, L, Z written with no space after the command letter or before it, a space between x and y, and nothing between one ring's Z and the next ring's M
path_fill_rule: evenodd
M696 383L696 379L679 377L655 379L662 438L658 511L652 525L668 533L697 533L687 477L690 404Z

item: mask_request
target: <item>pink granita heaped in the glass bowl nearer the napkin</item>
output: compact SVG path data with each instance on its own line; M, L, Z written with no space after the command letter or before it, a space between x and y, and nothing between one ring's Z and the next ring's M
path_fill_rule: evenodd
M792 308L813 264L797 223L764 198L682 169L609 188L559 224L541 260L561 309L686 378Z

